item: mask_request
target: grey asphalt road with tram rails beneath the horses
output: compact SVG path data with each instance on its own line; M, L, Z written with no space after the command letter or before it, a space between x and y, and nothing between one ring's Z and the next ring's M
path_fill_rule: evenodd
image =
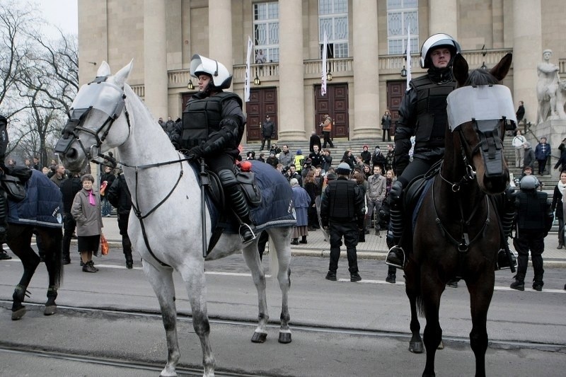
M266 256L264 266L269 270ZM13 286L21 275L18 260L0 262L0 374L10 376L156 376L131 365L94 364L119 360L161 368L166 343L158 305L135 260L124 267L119 249L96 260L100 272L85 274L76 262L66 266L59 289L59 313L45 317L47 273L37 269L29 291L29 311L12 321L9 308ZM207 262L208 312L218 375L221 371L258 376L418 376L425 354L410 354L409 308L403 278L384 282L381 260L359 260L362 282L347 281L347 261L340 260L339 282L324 279L328 258L294 257L289 296L291 344L277 343L280 294L267 284L273 327L265 344L250 337L257 318L257 295L240 255ZM269 272L269 271L268 271ZM529 270L532 274L532 271ZM508 288L508 271L496 273L496 288L488 314L487 374L491 376L559 376L566 368L566 269L546 268L542 292ZM200 344L190 323L190 306L183 282L175 276L180 364L200 370ZM76 310L69 307L82 307ZM98 309L113 310L99 311ZM4 314L1 314L4 313ZM135 315L132 315L135 314ZM468 345L471 329L465 284L446 289L441 302L441 326L446 348L437 352L438 376L469 376L474 358ZM233 321L243 321L233 323ZM424 328L424 319L421 321ZM4 348L18 347L25 353ZM54 356L29 350L58 352ZM187 375L180 373L180 375Z

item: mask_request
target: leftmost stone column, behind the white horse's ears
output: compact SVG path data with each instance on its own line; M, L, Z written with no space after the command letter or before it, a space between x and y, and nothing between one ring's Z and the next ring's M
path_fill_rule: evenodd
M155 119L169 115L165 15L165 1L144 0L144 100Z

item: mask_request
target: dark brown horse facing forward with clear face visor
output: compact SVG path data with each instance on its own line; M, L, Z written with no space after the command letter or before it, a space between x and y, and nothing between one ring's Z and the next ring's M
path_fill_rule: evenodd
M405 266L412 352L423 350L417 306L427 319L427 364L422 376L435 375L434 356L442 337L440 298L446 282L455 277L468 287L475 375L485 376L487 311L502 245L495 197L504 192L509 181L502 140L506 124L512 125L514 120L509 89L497 83L507 75L511 61L512 55L507 54L490 71L478 69L469 74L461 55L454 62L459 88L448 98L444 161L424 196L414 236L403 245L412 250Z

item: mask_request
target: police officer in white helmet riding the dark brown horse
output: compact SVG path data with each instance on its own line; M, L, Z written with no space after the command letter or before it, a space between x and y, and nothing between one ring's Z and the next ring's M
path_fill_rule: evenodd
M460 45L450 35L434 34L425 40L420 65L428 69L427 74L410 81L410 88L401 102L395 128L395 174L398 178L380 210L380 217L384 220L389 219L391 211L393 234L388 234L390 245L397 245L403 233L403 189L411 180L427 173L444 156L444 134L448 123L446 97L456 88L452 64L458 53ZM412 136L415 136L415 149L413 160L409 163ZM393 246L387 256L388 265L402 268L403 261L403 249Z

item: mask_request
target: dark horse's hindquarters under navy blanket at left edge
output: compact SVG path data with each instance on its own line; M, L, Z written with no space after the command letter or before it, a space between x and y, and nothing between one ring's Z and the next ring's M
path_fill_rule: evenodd
M45 175L33 170L25 184L28 194L22 202L8 199L7 245L20 258L23 274L13 291L12 320L19 320L25 314L23 301L40 257L31 248L32 236L40 238L40 247L45 252L45 267L49 274L45 315L57 313L57 289L63 277L62 262L62 204L59 187ZM39 245L38 245L39 247Z

